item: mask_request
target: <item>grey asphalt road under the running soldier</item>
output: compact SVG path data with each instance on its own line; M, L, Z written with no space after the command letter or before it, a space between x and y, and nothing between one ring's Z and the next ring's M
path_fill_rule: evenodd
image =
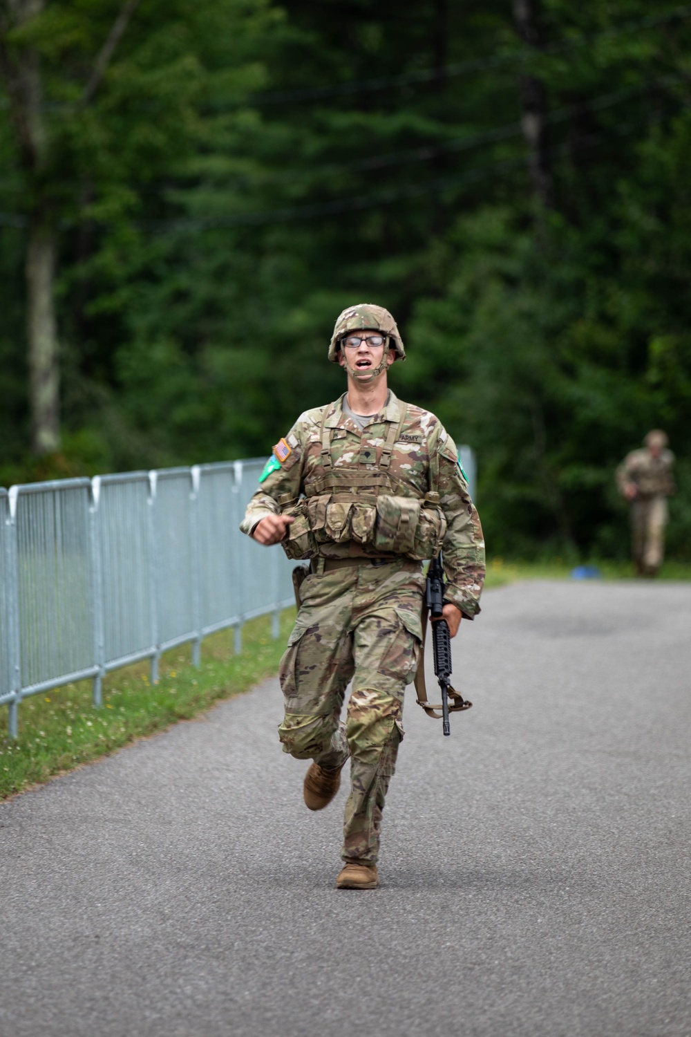
M691 586L529 583L337 891L268 681L0 806L2 1037L691 1034Z

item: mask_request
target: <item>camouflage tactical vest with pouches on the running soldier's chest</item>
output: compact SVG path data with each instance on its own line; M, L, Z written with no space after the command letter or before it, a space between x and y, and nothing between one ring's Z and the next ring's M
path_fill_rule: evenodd
M430 455L429 488L420 497L415 487L390 471L392 451L401 436L402 417L392 422L376 468L332 461L332 429L327 409L321 420L321 473L307 473L305 496L279 498L281 514L290 515L288 537L282 545L288 558L315 558L328 544L348 545L349 556L406 558L423 561L436 556L447 533L439 506L439 458ZM326 548L326 554L328 549Z

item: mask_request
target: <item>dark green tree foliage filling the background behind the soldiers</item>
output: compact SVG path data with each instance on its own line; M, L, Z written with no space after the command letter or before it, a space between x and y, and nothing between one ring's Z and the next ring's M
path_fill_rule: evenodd
M691 9L544 0L532 46L506 0L142 0L81 105L119 9L51 0L22 30L60 228L53 469L265 454L341 391L333 321L374 301L408 349L396 391L478 452L495 551L625 552L612 471L661 426L688 554ZM2 109L0 156L16 477L48 463L27 459L30 185Z

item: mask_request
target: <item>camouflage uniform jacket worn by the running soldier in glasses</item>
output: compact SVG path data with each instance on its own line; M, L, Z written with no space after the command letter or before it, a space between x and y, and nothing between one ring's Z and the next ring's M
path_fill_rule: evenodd
M261 518L281 512L280 500L299 497L305 493L306 481L323 476L322 421L330 430L333 471L338 472L342 467L367 473L378 471L390 426L392 423L398 425L405 413L387 471L400 486L397 492L409 497L421 499L431 484L436 483L439 506L447 520L442 549L447 577L444 597L471 619L480 612L485 544L478 511L470 500L453 440L433 414L402 403L393 392L383 411L361 431L342 409L344 397L345 393L334 403L306 411L288 436L273 448L264 470L266 473L268 469L268 474L262 474L260 487L248 505L240 529L251 535ZM328 558L363 554L354 541L322 543L319 553Z

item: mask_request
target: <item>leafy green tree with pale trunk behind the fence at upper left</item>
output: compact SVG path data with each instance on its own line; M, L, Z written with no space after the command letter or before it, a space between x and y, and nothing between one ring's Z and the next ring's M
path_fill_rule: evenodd
M26 273L26 336L4 331L27 343L23 402L36 453L59 446L60 347L68 431L84 431L75 404L85 386L103 397L114 384L113 331L119 339L123 327L92 317L112 311L107 297L123 276L142 272L138 221L165 205L166 181L237 119L204 106L219 91L237 105L261 84L249 53L273 20L254 0L0 3L2 188L15 209L4 237L12 273Z

